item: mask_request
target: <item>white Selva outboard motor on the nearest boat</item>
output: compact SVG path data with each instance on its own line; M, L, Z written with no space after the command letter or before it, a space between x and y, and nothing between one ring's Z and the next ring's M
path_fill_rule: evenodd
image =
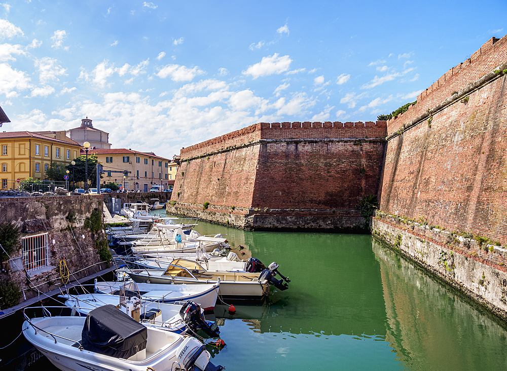
M221 371L222 366L215 366L209 361L209 353L206 346L196 338L186 338L177 349L176 359L182 369L201 371Z

